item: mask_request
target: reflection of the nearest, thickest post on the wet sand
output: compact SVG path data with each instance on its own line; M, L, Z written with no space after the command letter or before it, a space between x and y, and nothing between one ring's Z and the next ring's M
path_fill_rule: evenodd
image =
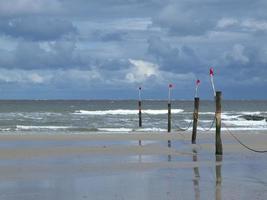
M216 200L222 199L222 159L221 155L216 155L216 190L215 190L215 198Z

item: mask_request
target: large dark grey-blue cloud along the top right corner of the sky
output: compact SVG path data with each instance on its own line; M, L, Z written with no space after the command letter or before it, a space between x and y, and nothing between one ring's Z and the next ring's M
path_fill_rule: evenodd
M214 30L217 22L224 17L266 19L266 6L267 3L264 0L170 1L159 15L154 17L154 23L168 29L173 35L203 35Z

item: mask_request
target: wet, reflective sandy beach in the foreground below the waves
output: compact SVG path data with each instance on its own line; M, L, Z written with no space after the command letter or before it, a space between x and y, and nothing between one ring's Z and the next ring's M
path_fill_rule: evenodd
M267 150L267 133L235 135ZM214 137L199 132L191 145L190 132L1 135L0 199L266 199L267 154L223 133L216 157Z

